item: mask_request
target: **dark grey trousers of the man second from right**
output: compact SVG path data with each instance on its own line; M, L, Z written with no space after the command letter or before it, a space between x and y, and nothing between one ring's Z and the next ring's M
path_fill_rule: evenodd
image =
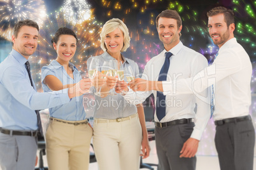
M155 127L155 144L159 170L195 170L196 157L180 158L183 143L190 138L195 124L177 124L165 128Z

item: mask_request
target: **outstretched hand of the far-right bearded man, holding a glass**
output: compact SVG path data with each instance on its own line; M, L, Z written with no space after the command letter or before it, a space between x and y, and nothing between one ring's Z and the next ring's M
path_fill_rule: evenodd
M146 81L145 79L134 79L128 83L128 86L130 86L133 91L150 91L150 81Z

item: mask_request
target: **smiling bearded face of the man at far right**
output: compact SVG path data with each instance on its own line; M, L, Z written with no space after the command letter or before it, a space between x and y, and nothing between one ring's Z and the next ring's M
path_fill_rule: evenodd
M208 29L211 39L213 39L214 44L218 45L219 48L234 37L234 23L231 23L231 25L227 27L223 13L209 16Z

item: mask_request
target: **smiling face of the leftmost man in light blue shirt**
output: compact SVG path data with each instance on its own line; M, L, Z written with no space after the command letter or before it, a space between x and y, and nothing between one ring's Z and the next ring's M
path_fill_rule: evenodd
M12 36L13 49L29 59L36 47L38 46L38 30L34 27L22 26L17 34L17 37Z

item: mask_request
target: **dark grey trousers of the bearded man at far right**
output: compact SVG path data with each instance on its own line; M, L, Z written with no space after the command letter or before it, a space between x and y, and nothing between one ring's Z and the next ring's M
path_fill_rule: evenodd
M252 121L216 126L215 145L221 170L253 170L255 131Z

